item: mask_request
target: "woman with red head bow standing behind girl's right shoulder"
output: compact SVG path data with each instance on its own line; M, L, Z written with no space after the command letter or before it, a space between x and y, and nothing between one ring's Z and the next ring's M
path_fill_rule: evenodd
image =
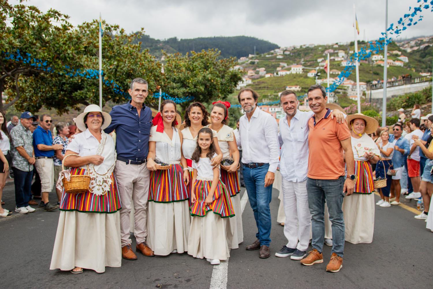
M233 128L227 125L229 121L228 101L213 102L212 111L210 112L211 123L208 127L216 131L218 137L218 145L223 153L223 160L232 158L233 163L228 166L228 170L221 169L221 182L226 186L227 193L231 196L233 209L235 211L234 218L227 218L226 236L227 244L230 249L239 248L239 244L243 242L242 230L242 213L240 202L240 186L237 169L239 165L239 150L236 145L235 134Z

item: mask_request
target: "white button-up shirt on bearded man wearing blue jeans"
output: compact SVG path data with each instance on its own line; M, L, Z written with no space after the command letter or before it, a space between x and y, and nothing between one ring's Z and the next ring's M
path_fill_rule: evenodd
M250 120L243 115L239 120L238 146L242 146L242 162L268 163L268 172L278 167L280 146L278 124L270 114L256 107Z

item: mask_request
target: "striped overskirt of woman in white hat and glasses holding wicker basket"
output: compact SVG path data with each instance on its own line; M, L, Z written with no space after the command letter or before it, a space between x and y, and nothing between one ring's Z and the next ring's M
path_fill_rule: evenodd
M71 175L85 175L86 169L71 168ZM83 213L115 213L122 208L116 177L111 173L110 191L105 195L94 195L87 191L81 194L61 193L61 211L79 211Z

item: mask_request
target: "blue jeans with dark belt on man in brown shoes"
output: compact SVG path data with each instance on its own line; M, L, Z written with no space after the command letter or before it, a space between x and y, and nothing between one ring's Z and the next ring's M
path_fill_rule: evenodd
M243 166L242 174L249 204L254 212L255 224L258 232L255 237L260 240L260 245L269 246L271 243L271 210L269 204L272 199L272 185L265 187L265 175L269 164L250 169Z

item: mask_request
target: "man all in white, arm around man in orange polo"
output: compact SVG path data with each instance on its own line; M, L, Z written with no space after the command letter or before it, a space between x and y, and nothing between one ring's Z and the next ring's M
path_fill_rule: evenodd
M275 253L277 257L301 260L307 254L310 240L311 214L308 208L308 120L313 111L297 109L298 101L294 91L286 90L280 95L281 106L286 116L280 119L278 139L281 146L280 173L283 205L286 221L284 236L288 243ZM344 122L344 114L334 110L339 123Z

